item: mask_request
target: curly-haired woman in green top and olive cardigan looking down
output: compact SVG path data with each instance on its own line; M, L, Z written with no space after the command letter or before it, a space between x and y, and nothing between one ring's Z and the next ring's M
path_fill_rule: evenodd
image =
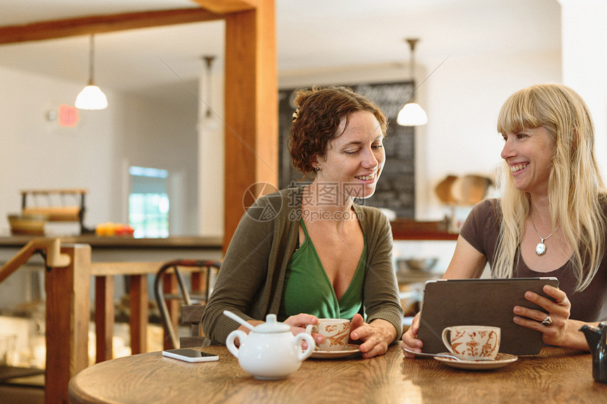
M205 336L224 343L234 329L248 332L224 310L253 325L277 314L293 333L344 318L363 357L383 355L402 335L392 232L378 209L354 199L375 192L387 120L344 87L300 90L295 102L289 151L313 181L260 197L243 216L205 309Z

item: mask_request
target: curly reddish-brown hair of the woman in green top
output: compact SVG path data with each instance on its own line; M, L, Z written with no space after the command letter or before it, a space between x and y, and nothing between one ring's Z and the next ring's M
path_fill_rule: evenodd
M342 118L356 111L369 111L377 118L383 135L386 135L387 118L379 107L366 97L347 87L312 87L297 90L289 139L289 153L293 166L303 174L315 173L314 157L324 157L329 142L337 133ZM347 122L346 122L347 126Z

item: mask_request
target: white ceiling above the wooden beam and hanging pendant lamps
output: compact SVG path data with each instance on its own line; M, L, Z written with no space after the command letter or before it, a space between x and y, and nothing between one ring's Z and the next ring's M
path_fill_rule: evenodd
M0 26L78 16L197 7L191 0L0 0ZM558 0L276 0L278 70L322 71L409 59L432 68L457 54L560 49ZM222 22L95 36L95 81L116 91L162 93L193 83L203 55L222 68ZM0 66L88 80L88 37L0 45ZM179 88L183 90L183 88Z

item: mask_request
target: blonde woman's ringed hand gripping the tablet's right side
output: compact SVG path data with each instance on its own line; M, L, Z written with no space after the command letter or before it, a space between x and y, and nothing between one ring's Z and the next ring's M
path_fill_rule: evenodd
M525 299L542 307L548 314L528 307L515 306L513 309L516 314L514 322L543 333L543 342L548 345L587 349L585 338L578 331L584 323L569 319L571 303L567 294L563 290L549 285L543 287L543 292L548 295L548 298L527 291ZM548 317L551 319L551 324L542 324Z

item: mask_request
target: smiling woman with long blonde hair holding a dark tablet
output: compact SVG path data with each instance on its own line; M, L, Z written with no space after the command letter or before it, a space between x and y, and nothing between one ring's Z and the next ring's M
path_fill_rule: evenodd
M546 344L588 350L579 328L607 319L607 200L588 108L569 87L534 85L507 99L498 132L503 197L474 207L444 277L478 278L487 263L494 278L555 276L550 298L525 294L548 314L515 306L513 321ZM418 329L402 348L421 351Z

